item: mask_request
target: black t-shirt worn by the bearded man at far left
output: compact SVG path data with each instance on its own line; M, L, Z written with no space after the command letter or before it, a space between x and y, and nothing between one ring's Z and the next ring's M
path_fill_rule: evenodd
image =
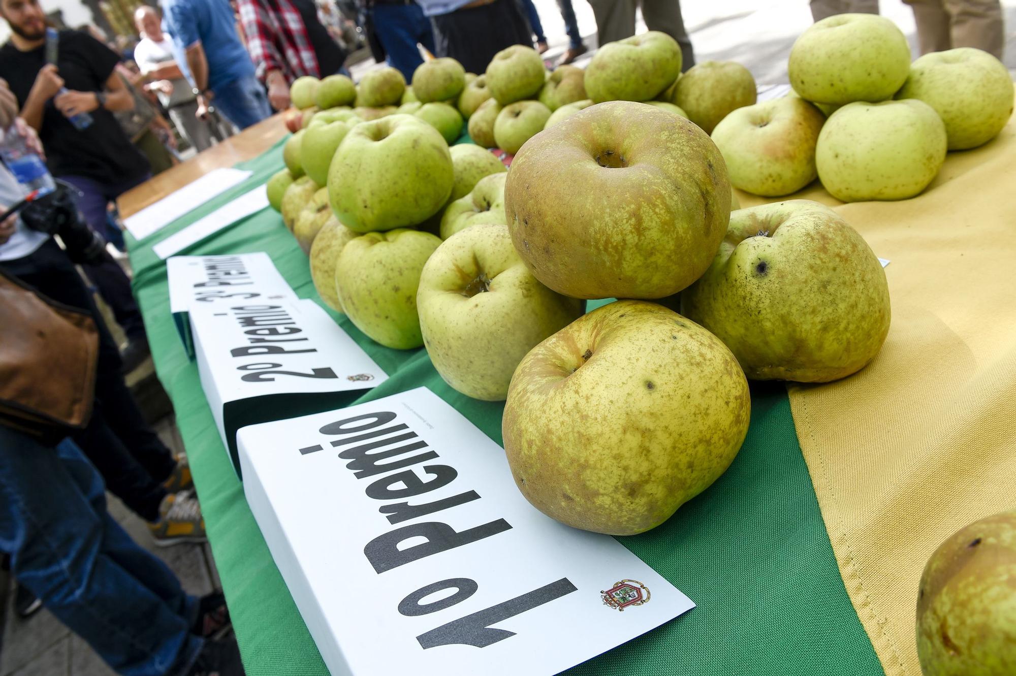
M10 42L0 48L0 77L10 84L24 107L36 75L46 65L46 46L20 52ZM120 58L91 36L60 31L57 69L64 86L73 91L102 91ZM131 144L109 111L91 111L91 125L75 129L50 99L43 109L39 137L53 176L83 176L107 184L137 180L150 170L148 160Z

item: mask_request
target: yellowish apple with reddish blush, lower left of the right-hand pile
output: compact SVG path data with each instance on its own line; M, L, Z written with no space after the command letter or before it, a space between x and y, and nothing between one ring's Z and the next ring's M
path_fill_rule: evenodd
M825 116L804 98L773 98L732 112L712 130L712 142L735 188L789 195L818 176L815 144L823 124Z

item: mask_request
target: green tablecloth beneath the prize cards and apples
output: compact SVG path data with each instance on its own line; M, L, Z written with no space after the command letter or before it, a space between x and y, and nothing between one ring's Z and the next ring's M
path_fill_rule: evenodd
M166 265L151 251L156 242L264 183L282 166L280 144L240 166L254 172L246 184L151 238L130 241L134 290L158 378L176 408L247 673L324 675L324 663L219 441L197 366L184 353L169 311ZM324 307L307 257L274 211L246 218L183 253L259 251L268 253L298 295ZM463 397L445 385L425 350L381 347L346 318L328 312L389 375L358 401L426 386L501 443L502 404ZM883 674L843 588L782 386L753 385L748 438L713 486L655 530L619 540L698 607L569 674Z

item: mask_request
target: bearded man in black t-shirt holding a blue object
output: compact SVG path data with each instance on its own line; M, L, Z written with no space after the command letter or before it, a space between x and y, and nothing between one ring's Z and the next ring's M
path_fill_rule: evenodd
M134 106L116 72L120 58L83 31L47 38L38 0L0 0L0 16L11 29L0 48L0 77L10 84L20 116L39 132L50 173L80 191L78 208L103 235L109 203L149 178L148 162L114 117ZM48 63L47 53L52 58L54 51L55 63ZM91 124L79 129L71 118L82 114ZM130 280L111 258L83 267L130 341L125 361L139 364L148 343Z

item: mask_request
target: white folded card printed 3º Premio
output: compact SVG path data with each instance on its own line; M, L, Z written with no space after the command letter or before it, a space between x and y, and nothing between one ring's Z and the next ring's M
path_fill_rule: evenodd
M175 256L166 262L170 312L184 350L194 356L188 312L194 306L240 301L299 300L268 254Z

